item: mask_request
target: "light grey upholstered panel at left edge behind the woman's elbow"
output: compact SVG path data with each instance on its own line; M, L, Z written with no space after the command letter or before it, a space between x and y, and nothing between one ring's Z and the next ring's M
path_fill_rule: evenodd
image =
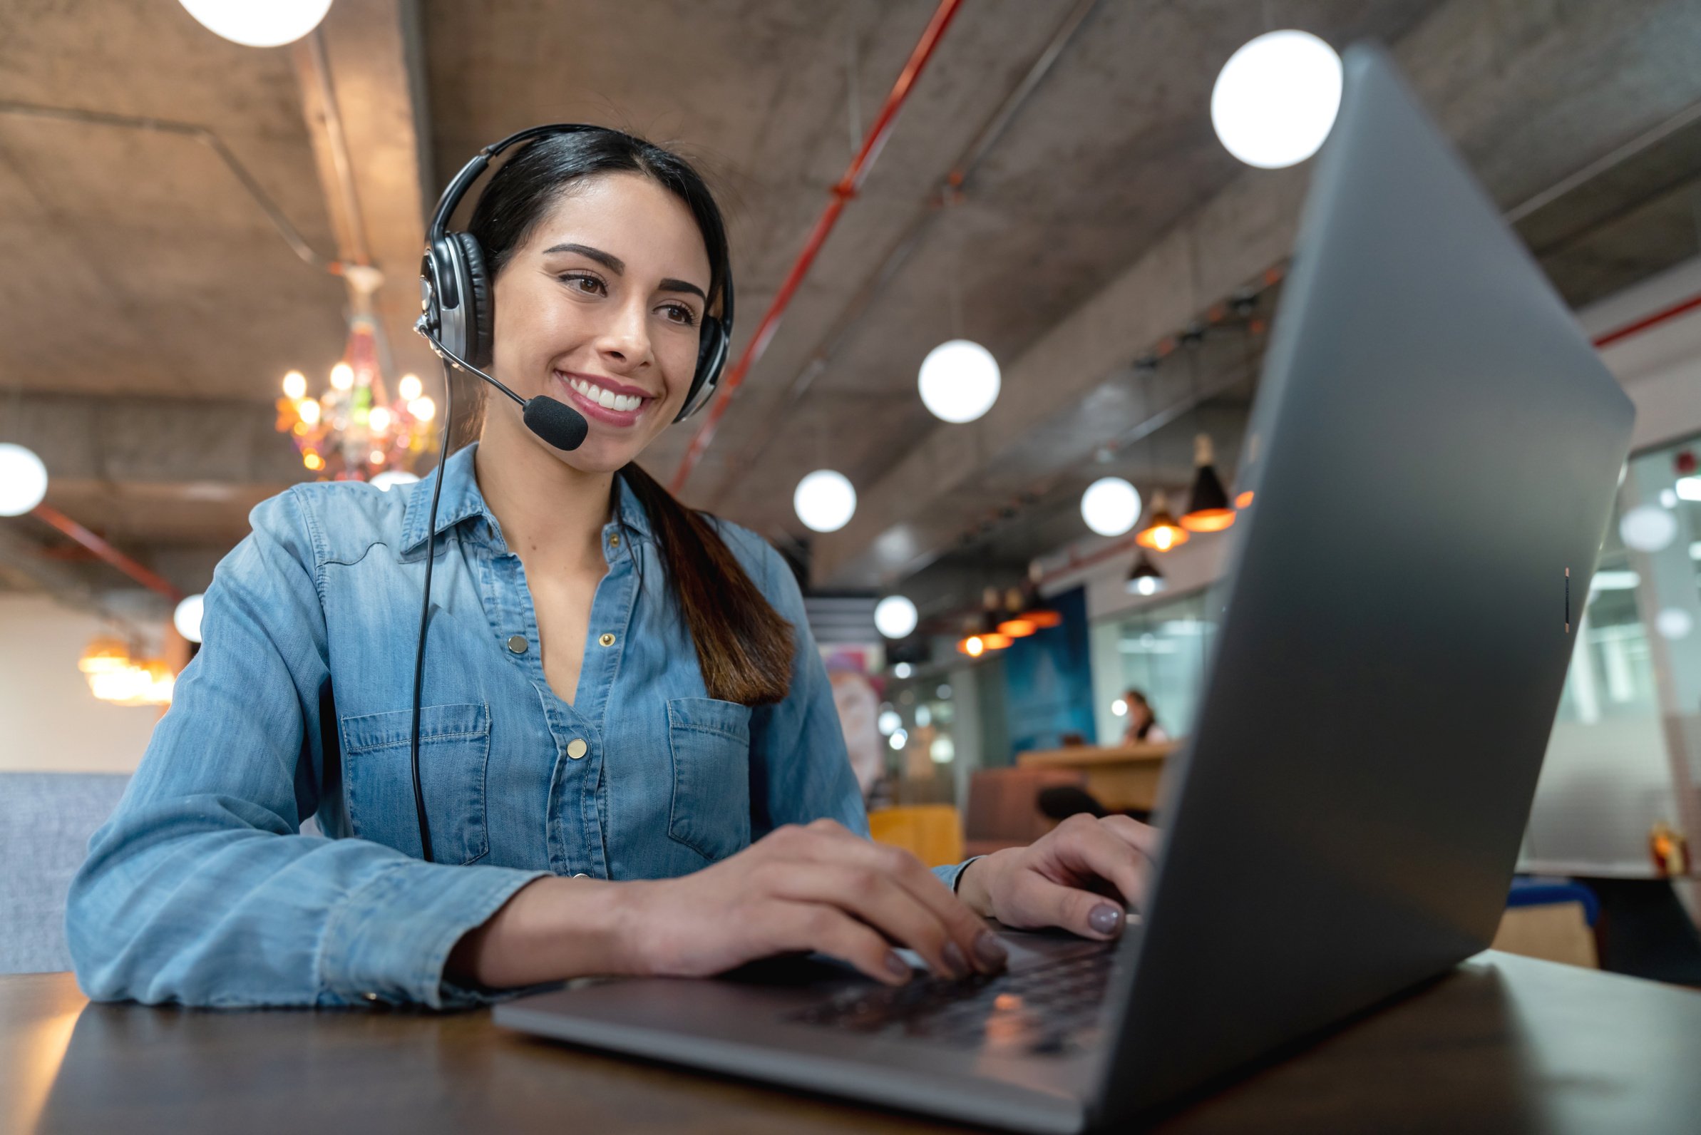
M68 970L65 895L129 776L0 773L0 973Z

